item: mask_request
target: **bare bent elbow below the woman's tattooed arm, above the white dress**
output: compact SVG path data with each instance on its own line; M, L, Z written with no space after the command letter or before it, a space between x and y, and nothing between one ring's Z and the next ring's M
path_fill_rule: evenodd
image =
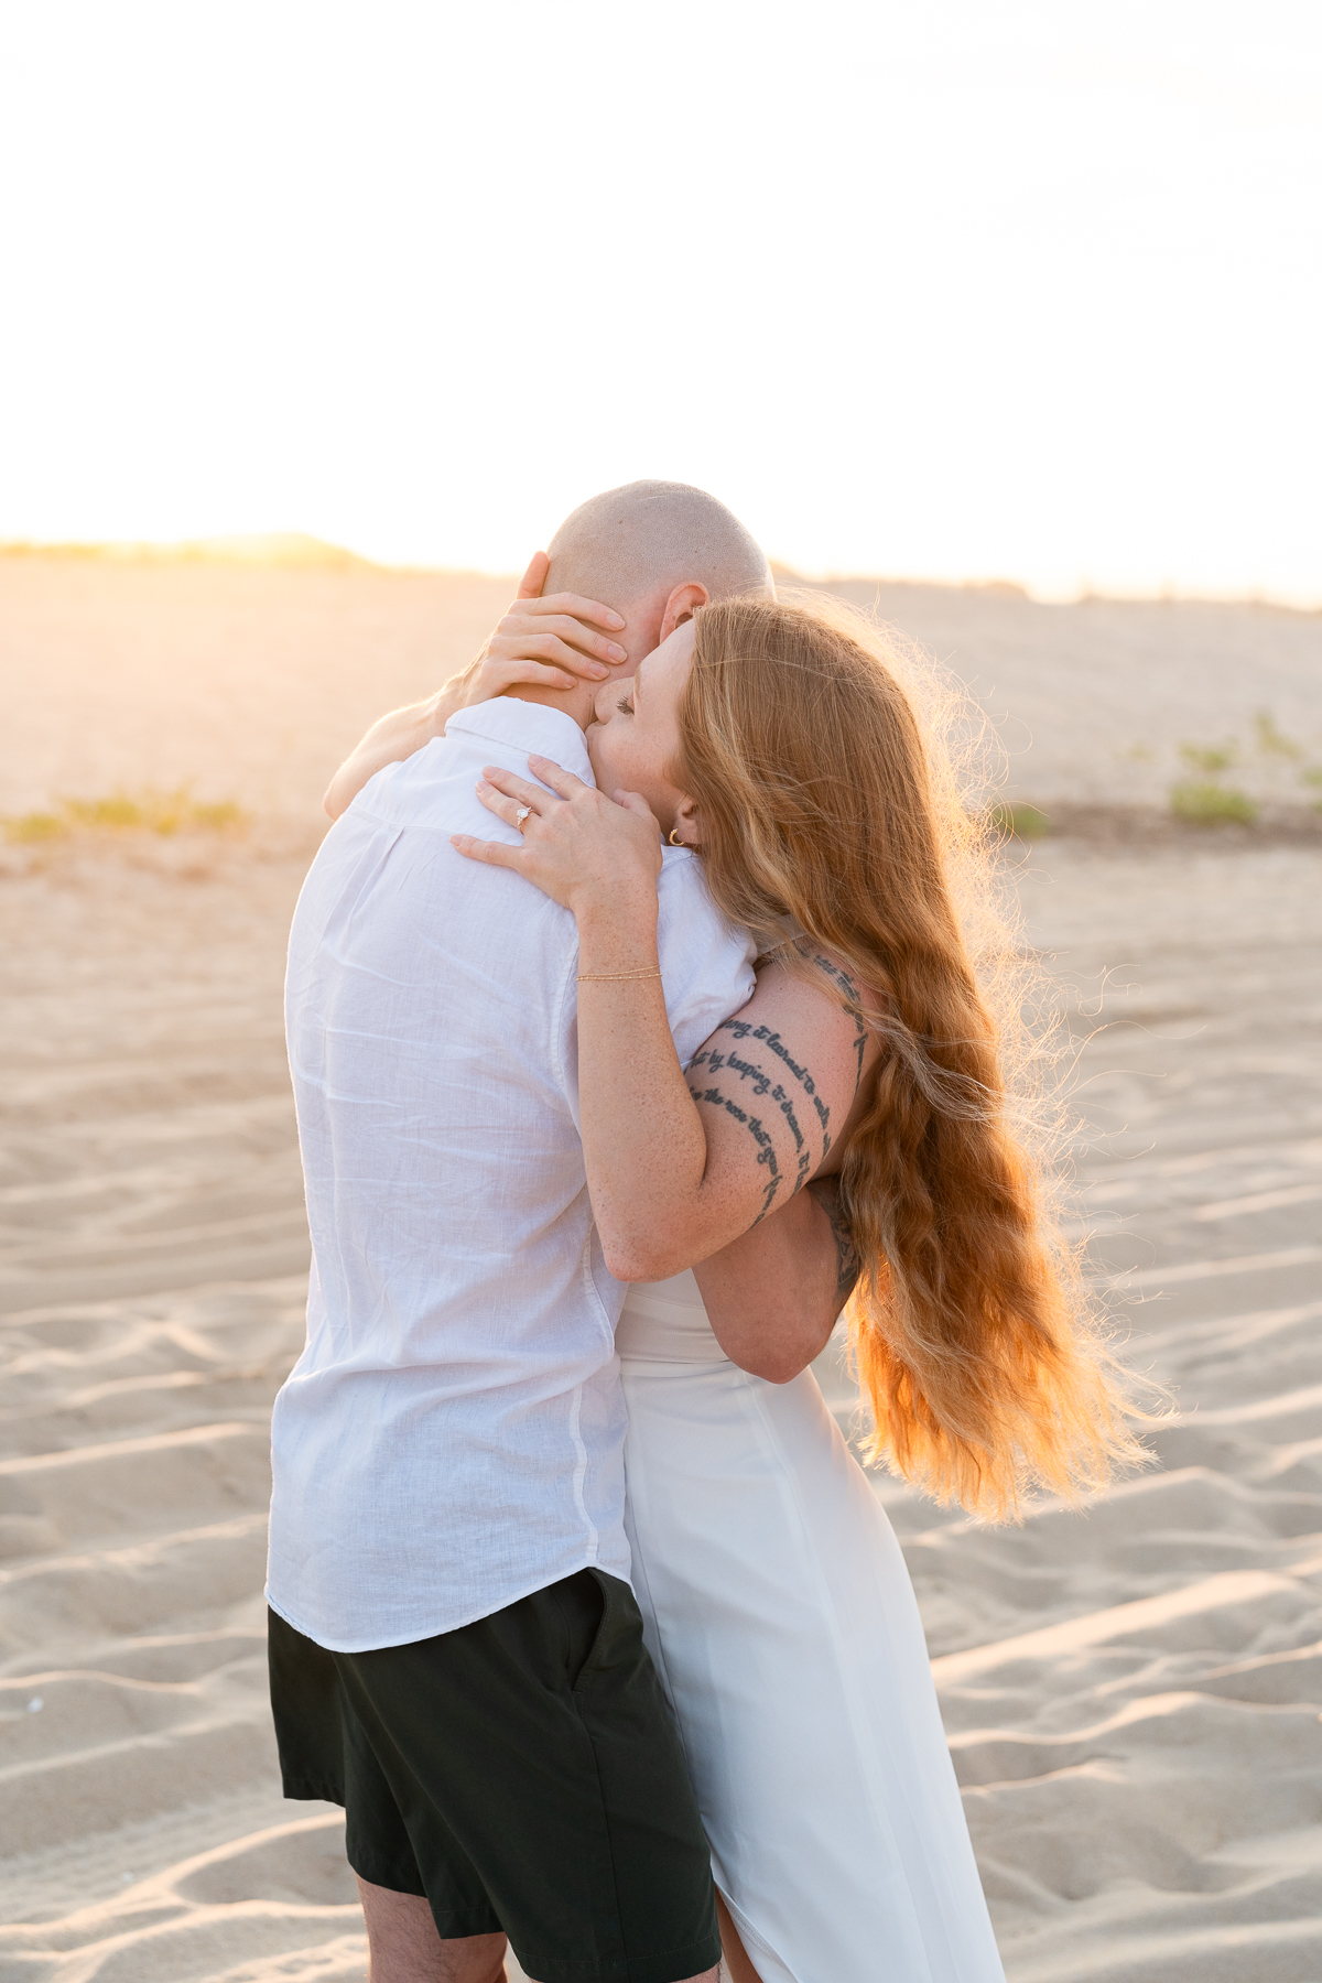
M694 1273L729 1360L789 1384L825 1350L858 1279L838 1180L815 1178Z

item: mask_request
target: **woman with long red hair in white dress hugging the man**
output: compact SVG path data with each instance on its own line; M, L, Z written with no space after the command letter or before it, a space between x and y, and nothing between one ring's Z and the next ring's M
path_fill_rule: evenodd
M454 845L579 924L589 1190L610 1269L636 1283L618 1333L636 1588L737 1929L729 1967L991 1983L886 1515L811 1372L737 1368L688 1271L834 1176L876 1458L1005 1517L1027 1485L1076 1493L1136 1452L1011 1132L953 902L963 815L872 637L825 611L704 607L603 690L589 750L599 789L545 759L543 783L488 773L523 847ZM658 827L767 958L688 1071L656 966Z

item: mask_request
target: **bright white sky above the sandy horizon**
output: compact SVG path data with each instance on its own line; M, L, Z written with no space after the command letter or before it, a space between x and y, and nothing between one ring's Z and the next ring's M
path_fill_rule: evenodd
M0 537L1322 601L1316 0L4 0Z

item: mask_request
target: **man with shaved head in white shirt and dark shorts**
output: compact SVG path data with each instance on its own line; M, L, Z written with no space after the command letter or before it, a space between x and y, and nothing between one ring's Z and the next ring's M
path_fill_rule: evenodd
M708 599L769 587L710 496L599 496L529 567L486 700L460 708L464 680L396 712L327 793L343 817L289 942L313 1275L272 1432L272 1701L285 1795L347 1807L375 1983L490 1983L505 1931L537 1983L716 1977L706 1840L628 1588L575 926L448 837L501 831L484 763L527 775L541 752L591 781L585 664L630 672ZM499 642L527 639L575 686L492 700ZM688 1061L753 978L686 851L658 942Z

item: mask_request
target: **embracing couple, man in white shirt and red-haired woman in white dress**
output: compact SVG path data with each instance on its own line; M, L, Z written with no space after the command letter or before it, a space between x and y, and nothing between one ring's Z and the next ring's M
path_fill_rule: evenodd
M721 504L577 510L337 773L293 918L285 1795L373 1983L993 1983L914 1592L809 1370L1005 1513L1130 1450L1007 1120L945 787Z

